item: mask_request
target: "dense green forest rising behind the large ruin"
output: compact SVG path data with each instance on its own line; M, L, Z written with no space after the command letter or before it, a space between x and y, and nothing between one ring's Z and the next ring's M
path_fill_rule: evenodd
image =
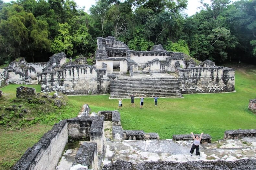
M55 53L91 57L97 37L130 49L168 51L216 63L256 63L256 0L211 0L192 16L187 0L97 0L87 14L73 0L0 0L0 65L19 57L47 62Z

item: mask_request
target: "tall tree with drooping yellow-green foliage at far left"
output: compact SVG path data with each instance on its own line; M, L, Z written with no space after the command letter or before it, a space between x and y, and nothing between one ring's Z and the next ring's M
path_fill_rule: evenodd
M18 57L26 57L30 61L36 51L50 50L47 23L37 21L32 13L25 12L16 3L4 7L0 16L0 46L10 61Z

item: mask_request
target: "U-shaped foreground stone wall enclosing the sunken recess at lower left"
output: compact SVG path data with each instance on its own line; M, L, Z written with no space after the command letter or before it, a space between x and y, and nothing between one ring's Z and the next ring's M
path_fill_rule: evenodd
M38 143L29 148L12 170L54 170L59 162L68 137L73 139L87 139L97 143L98 153L102 152L104 138L104 117L76 117L55 124L53 128L42 136ZM97 152L93 150L93 153ZM95 155L95 154L93 154ZM98 157L93 158L96 166Z

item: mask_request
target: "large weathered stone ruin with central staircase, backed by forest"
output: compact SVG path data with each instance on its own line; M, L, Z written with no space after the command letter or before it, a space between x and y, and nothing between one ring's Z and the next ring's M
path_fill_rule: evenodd
M97 38L97 45L95 65L87 65L84 57L72 62L64 53L53 55L47 63L27 63L21 58L1 73L1 85L41 84L43 92L110 94L111 98L127 97L127 93L182 97L235 90L235 70L210 60L195 62L183 53L164 50L162 45L151 51L134 51L113 36Z

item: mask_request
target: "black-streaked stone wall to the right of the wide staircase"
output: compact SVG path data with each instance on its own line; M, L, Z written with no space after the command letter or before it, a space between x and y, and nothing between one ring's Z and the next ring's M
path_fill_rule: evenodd
M177 68L183 94L232 92L235 90L235 70L228 67Z

